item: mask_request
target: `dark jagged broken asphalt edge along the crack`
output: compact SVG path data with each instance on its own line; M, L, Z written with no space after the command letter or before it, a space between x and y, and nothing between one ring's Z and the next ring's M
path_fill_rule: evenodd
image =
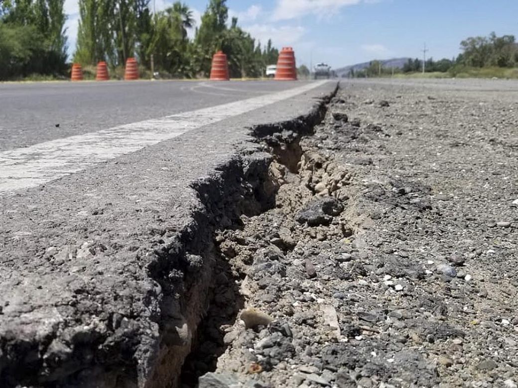
M231 226L243 212L271 206L264 190L274 156L261 141L283 132L311 133L338 87L315 100L306 114L253 126L249 140L236 144L234 155L191 184L198 203L189 222L145 253L149 281L140 297L147 314L110 314L104 324L97 322L88 330L45 316L32 322L31 333L0 330L0 385L175 386L210 302L214 232ZM243 198L249 199L247 210Z

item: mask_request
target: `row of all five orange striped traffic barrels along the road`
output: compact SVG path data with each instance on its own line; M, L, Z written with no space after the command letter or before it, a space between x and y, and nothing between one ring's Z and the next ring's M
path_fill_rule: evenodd
M106 62L99 62L97 64L97 72L95 76L96 81L109 80L108 66ZM126 61L126 68L124 70L125 80L138 80L138 64L135 58L128 58ZM212 67L210 69L210 79L213 81L228 81L230 75L228 72L227 56L218 51L212 58ZM295 64L295 53L291 47L283 47L279 53L279 60L277 61L277 71L275 79L278 81L296 81L297 80L297 66ZM83 73L81 65L72 65L72 81L82 81Z

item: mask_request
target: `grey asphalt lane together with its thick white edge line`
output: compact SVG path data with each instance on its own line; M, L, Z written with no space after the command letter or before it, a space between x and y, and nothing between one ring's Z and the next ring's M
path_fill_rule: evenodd
M36 187L323 83L0 85L0 193Z

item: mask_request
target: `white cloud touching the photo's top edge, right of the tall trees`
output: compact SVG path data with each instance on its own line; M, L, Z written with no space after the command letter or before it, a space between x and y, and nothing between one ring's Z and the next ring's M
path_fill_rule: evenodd
M277 0L272 19L289 20L316 14L319 18L330 17L341 8L356 5L362 0Z

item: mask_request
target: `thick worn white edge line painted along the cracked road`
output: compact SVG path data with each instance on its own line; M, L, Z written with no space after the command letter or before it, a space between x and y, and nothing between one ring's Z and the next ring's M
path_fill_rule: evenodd
M0 194L37 187L84 170L91 163L138 151L192 129L308 92L325 82L0 152Z

